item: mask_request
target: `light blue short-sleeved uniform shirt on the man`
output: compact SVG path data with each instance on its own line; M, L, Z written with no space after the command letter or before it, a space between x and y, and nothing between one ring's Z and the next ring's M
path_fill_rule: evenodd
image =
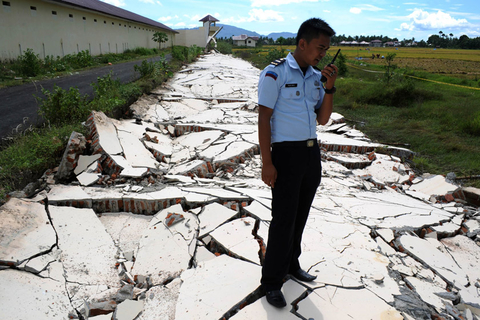
M309 66L305 76L291 53L260 74L258 104L273 109L271 142L316 139L317 115L325 94L320 71Z

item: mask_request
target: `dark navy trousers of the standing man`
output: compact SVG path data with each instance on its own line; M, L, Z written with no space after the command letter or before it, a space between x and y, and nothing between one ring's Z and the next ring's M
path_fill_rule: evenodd
M302 234L322 173L316 142L311 147L300 142L273 144L272 162L277 180L262 268L261 284L266 291L279 290L285 276L300 269Z

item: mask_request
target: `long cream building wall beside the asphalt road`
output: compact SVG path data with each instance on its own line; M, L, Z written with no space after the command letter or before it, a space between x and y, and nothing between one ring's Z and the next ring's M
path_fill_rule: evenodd
M175 37L170 30L57 3L4 0L0 5L1 60L15 59L27 48L41 58L83 50L99 55L136 47L158 48L152 40L156 31L168 35L169 40L162 44L165 48L173 45Z

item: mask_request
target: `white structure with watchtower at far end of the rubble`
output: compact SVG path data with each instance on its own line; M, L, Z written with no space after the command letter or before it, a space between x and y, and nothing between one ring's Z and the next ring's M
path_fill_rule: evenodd
M218 19L211 15L206 15L199 20L203 22L203 26L197 29L176 30L178 34L175 36L175 44L179 46L190 47L196 45L206 48L210 42L217 46L215 36L222 30L223 27L217 27Z

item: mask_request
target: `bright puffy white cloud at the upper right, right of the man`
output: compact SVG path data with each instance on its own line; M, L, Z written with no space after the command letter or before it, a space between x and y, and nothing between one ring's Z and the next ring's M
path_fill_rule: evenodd
M469 25L466 19L455 19L450 14L445 13L441 10L429 13L422 9L415 9L411 14L407 16L407 18L410 20L410 22L402 23L400 25L400 28L395 30L431 30L441 28L466 27Z

